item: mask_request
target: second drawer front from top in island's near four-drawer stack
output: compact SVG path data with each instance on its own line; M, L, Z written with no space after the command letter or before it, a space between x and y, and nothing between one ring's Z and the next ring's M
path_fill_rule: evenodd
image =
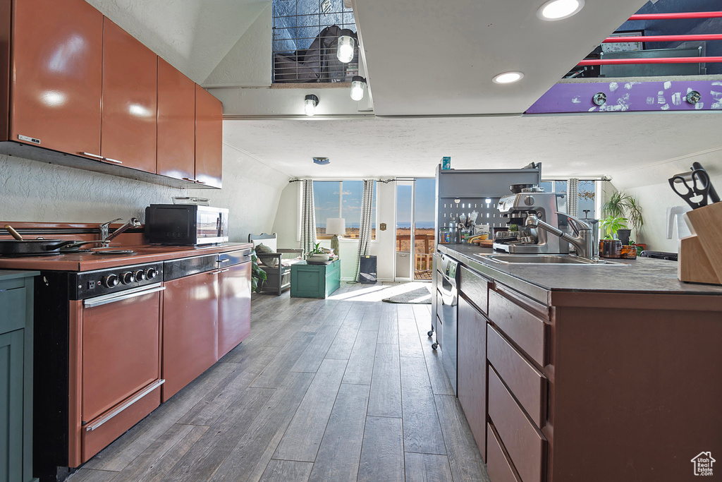
M536 426L546 413L547 377L494 329L487 327L487 358Z

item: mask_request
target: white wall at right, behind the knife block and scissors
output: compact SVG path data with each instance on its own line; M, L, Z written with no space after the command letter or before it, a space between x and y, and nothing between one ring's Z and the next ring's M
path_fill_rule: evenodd
M615 188L632 194L642 206L644 227L640 242L646 243L647 249L677 252L677 230L674 230L672 239L666 239L666 210L667 207L686 203L674 194L667 179L674 174L690 171L695 161L708 171L712 184L716 186L718 193L722 194L722 155L719 151L632 169L616 173L612 177Z

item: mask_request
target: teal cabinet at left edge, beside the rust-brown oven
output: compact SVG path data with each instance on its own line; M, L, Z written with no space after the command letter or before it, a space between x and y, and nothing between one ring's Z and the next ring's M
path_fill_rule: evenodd
M32 283L0 270L0 480L32 478Z

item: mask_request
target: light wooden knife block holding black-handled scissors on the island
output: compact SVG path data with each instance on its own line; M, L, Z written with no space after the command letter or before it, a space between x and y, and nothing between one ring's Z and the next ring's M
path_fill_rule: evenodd
M677 277L722 285L722 202L687 212L695 234L679 240Z

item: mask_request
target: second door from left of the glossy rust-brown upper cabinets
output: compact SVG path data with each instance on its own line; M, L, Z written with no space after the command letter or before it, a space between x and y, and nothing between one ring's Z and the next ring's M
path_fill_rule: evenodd
M106 161L155 173L157 70L157 55L106 17L100 138Z

